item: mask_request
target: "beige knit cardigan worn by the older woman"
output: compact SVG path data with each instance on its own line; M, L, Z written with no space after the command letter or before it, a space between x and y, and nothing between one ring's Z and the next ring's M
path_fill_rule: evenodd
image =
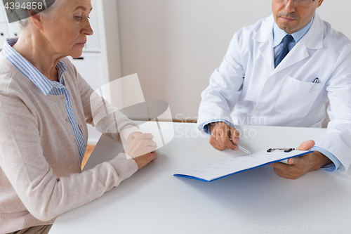
M87 141L93 90L67 58L62 61L74 114ZM116 152L114 160L81 172L62 97L44 96L0 53L0 234L52 224L59 214L95 200L138 170L134 160ZM119 115L119 131L131 124ZM97 128L104 132L110 126L114 122L105 121Z

